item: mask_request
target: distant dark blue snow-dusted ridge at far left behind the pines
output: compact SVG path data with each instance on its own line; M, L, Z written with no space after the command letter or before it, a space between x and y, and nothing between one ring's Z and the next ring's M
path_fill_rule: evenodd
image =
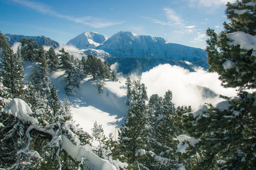
M52 46L53 48L60 46L60 44L57 41L54 41L51 38L47 38L45 36L22 36L13 34L4 34L4 36L6 37L6 41L9 45L13 45L14 43L20 42L24 38L32 38L36 43L38 43L39 46L45 45Z

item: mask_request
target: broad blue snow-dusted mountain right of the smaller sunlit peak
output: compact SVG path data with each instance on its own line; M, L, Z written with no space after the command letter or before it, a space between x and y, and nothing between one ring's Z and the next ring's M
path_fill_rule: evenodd
M140 36L120 31L97 47L117 57L151 57L186 60L202 67L207 66L207 53L200 48L169 43L164 38Z

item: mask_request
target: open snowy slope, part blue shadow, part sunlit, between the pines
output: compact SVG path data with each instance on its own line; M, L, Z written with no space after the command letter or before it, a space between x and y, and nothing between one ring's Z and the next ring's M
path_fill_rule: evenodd
M58 89L58 96L63 101L65 99L64 71L51 74L51 83ZM81 87L77 90L76 96L68 97L74 120L84 131L91 133L93 123L97 121L101 124L106 136L113 133L117 138L117 127L119 127L122 117L127 115L125 104L124 84L108 81L104 87L104 92L99 94L97 87L92 85L91 80L81 81Z

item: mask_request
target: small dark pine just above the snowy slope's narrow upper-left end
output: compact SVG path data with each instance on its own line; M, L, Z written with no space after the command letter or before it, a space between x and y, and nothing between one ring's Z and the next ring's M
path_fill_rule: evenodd
M52 46L46 52L46 56L47 56L50 72L57 71L59 67L59 59L58 59L58 55L56 55L54 48L52 48Z

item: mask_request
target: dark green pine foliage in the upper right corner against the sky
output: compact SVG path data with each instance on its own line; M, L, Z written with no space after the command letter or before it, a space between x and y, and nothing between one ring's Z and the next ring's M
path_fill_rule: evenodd
M243 31L254 36L256 34L256 11L255 6L245 5L251 1L237 1L234 4L227 4L226 14L229 23L224 23L225 31L216 34L214 30L208 29L206 51L208 53L209 70L220 74L220 80L224 87L239 87L240 89L255 88L255 67L256 57L252 55L252 50L241 49L239 45L230 45L231 40L227 38L228 33ZM247 10L238 15L234 10ZM234 66L224 69L223 63L230 60Z

